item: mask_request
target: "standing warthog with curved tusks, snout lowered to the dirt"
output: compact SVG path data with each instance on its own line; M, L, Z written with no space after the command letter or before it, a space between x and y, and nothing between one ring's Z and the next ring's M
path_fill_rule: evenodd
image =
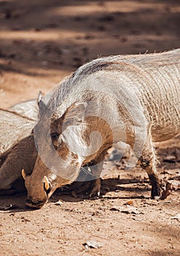
M146 170L152 198L161 196L153 142L179 135L180 49L109 56L79 67L50 97L39 100L34 127L38 157L26 175L27 205L41 208L56 188L71 184L89 166L100 192L106 151L128 143ZM48 100L47 100L48 98Z

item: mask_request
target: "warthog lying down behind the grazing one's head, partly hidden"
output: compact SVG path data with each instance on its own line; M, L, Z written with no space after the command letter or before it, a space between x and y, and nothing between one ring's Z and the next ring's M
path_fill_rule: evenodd
M13 189L21 171L31 174L36 162L36 146L31 134L37 121L36 100L0 110L0 190ZM23 189L20 183L18 189Z

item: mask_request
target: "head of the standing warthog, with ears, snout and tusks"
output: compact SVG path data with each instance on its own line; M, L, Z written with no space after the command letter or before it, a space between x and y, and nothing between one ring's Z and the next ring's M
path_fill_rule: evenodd
M83 162L79 148L85 148L85 125L79 123L78 115L74 118L74 111L79 112L83 106L75 104L57 118L54 114L48 116L46 105L39 102L39 121L34 127L38 156L31 176L22 171L27 206L41 208L55 189L71 184L79 175Z

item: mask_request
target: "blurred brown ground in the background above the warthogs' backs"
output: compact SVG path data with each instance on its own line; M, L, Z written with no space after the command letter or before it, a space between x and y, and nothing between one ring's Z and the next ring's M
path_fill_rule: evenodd
M0 108L98 56L179 48L180 1L0 0Z

